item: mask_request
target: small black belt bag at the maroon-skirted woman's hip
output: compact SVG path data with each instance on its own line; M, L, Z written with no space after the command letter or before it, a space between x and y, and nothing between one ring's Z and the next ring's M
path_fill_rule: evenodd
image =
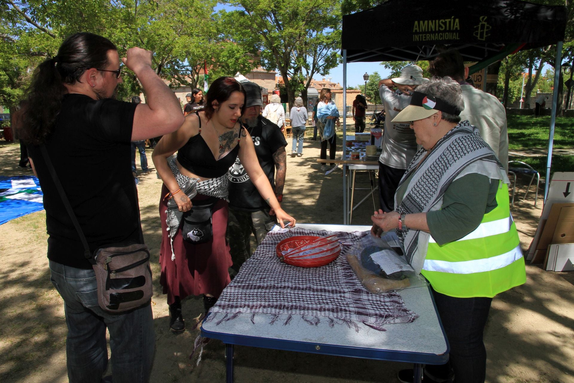
M213 208L217 202L216 197L194 202L191 210L183 215L181 235L185 241L196 244L211 241L214 236Z

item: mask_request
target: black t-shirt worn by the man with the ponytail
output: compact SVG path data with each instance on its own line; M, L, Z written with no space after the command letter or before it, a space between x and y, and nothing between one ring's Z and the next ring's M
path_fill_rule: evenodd
M120 242L139 242L139 207L131 175L131 130L137 104L67 94L45 146L82 227L90 252ZM28 154L44 193L48 258L91 269L84 247L38 146Z

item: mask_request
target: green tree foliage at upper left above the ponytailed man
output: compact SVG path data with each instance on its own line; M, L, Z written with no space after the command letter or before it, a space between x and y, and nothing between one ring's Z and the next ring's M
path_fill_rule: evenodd
M92 32L110 38L121 56L130 47L154 52L158 75L172 87L203 85L204 61L213 76L250 71L253 49L228 40L217 0L0 0L0 103L16 105L30 73L56 54L65 37ZM211 74L211 73L210 73ZM123 74L118 95L139 94L141 85Z

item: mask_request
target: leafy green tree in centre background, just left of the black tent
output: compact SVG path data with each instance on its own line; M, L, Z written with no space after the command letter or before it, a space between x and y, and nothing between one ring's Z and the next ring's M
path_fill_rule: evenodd
M229 38L253 46L261 64L278 69L289 103L317 73L326 75L340 61L340 0L226 0L237 10L227 13Z

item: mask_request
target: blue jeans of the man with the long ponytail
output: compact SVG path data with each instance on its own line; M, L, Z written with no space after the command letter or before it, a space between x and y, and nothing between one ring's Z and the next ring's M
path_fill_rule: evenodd
M122 314L108 313L98 305L94 270L76 269L53 261L49 264L50 280L64 299L69 381L102 381L108 363L107 327L114 383L148 382L156 341L152 305Z

